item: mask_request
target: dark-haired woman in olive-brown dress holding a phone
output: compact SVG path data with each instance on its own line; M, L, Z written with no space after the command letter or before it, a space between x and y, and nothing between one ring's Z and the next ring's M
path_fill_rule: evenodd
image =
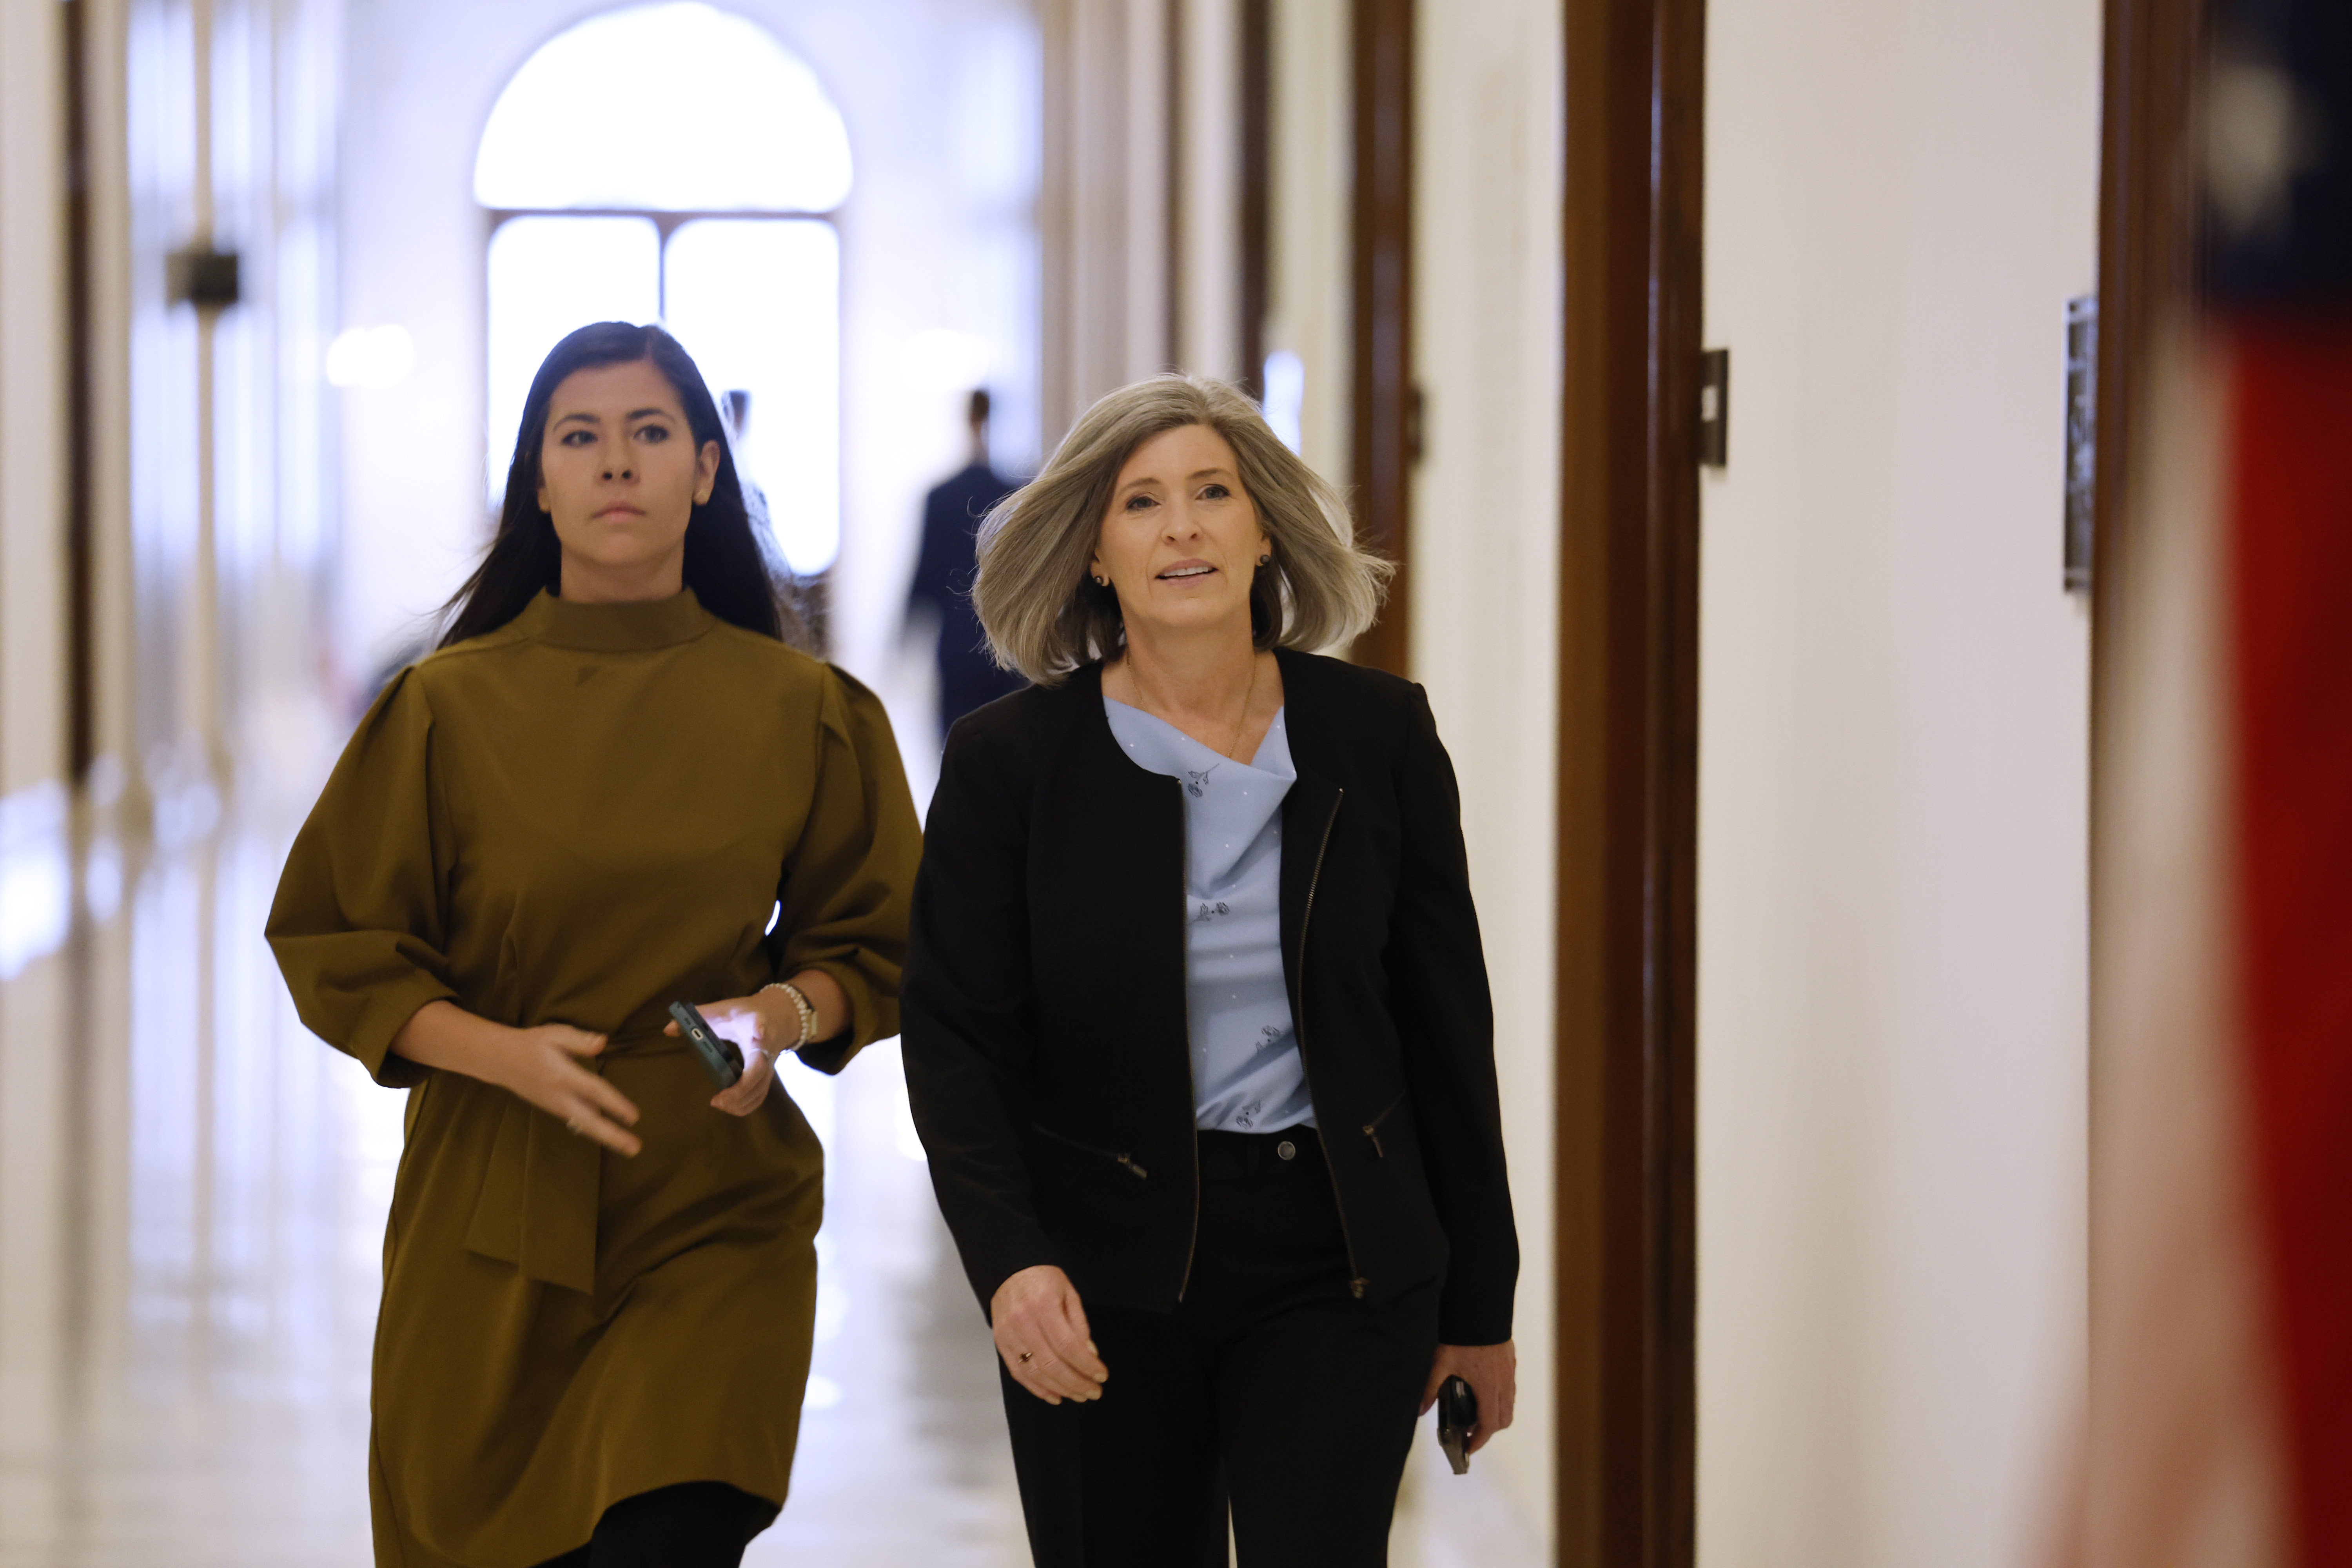
M882 705L786 644L776 583L687 353L574 331L447 637L287 858L303 1023L409 1091L379 1563L731 1566L783 1502L823 1152L774 1058L898 1030L920 835ZM731 1088L673 1001L743 1048Z

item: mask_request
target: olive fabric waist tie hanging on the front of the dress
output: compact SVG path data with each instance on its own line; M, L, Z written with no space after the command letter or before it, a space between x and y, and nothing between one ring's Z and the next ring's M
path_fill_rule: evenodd
M593 1072L619 1058L684 1051L661 1027L616 1030ZM604 1145L569 1131L550 1117L503 1093L499 1131L492 1135L482 1192L466 1227L466 1251L510 1262L527 1279L564 1291L595 1288L595 1218Z

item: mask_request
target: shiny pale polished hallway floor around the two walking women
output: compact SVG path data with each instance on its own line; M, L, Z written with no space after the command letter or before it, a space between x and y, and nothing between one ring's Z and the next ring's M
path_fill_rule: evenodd
M195 792L160 823L80 842L33 799L0 835L0 1568L355 1568L402 1098L278 985L292 816ZM793 1500L746 1561L1025 1563L896 1046L790 1091L830 1154L818 1345ZM1416 1453L1397 1563L1538 1561Z

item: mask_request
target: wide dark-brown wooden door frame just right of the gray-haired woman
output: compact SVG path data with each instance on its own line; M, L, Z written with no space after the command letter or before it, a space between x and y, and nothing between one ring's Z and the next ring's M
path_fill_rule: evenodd
M1696 1542L1705 0L1566 0L1557 1540Z

